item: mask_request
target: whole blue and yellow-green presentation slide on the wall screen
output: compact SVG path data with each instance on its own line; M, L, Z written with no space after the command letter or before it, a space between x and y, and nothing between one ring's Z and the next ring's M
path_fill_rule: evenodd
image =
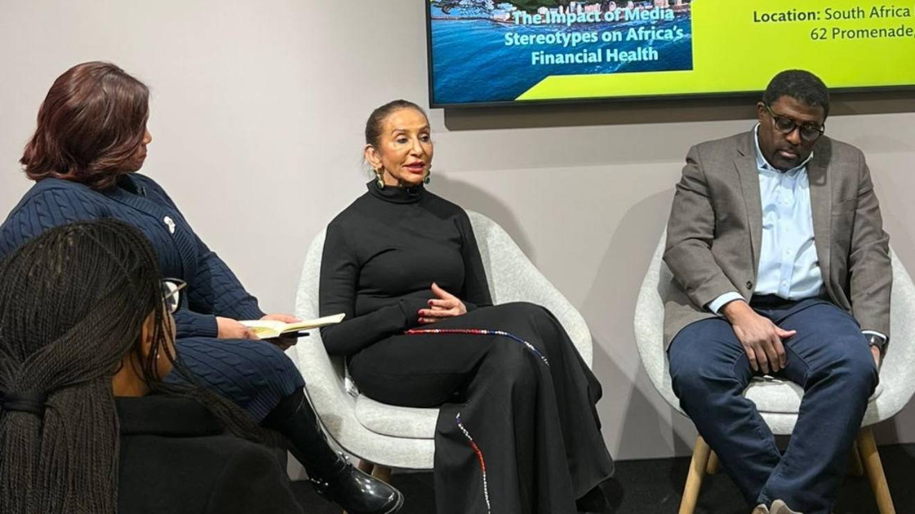
M429 0L434 107L915 86L915 0Z

